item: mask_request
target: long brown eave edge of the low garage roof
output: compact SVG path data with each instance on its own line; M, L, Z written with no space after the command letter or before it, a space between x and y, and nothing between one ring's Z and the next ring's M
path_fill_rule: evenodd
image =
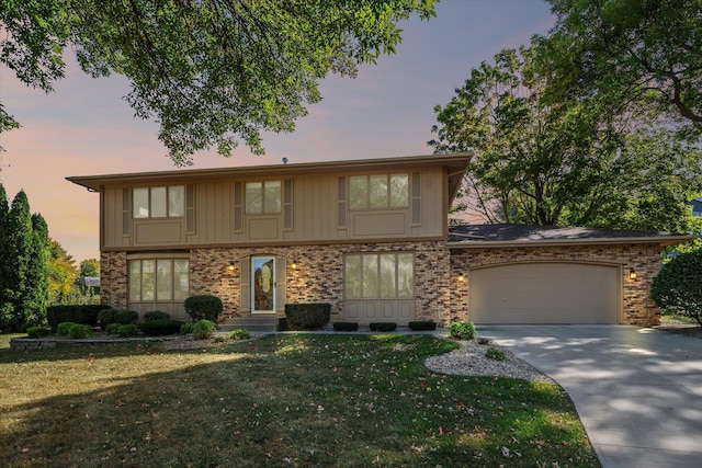
M667 237L609 237L599 239L543 239L543 240L464 240L446 241L449 249L486 249L486 248L509 248L509 247L565 247L565 246L614 246L623 243L654 243L660 247L675 246L698 239L695 235L679 235Z

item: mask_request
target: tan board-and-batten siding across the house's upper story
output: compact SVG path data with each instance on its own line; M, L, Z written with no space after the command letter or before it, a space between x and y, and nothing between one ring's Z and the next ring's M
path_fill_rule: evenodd
M397 173L400 171L393 171ZM318 173L262 179L213 179L169 182L169 185L192 185L194 205L178 218L140 218L132 216L132 185L110 185L101 192L103 249L162 249L192 246L295 244L314 242L366 241L388 239L442 238L445 219L444 170L442 168L409 169L409 206L407 208L352 210L346 204L346 225L339 226L339 179L349 175L383 172ZM292 220L284 219L285 203L280 214L247 215L240 212L240 229L235 226L236 184L280 180L285 196L285 180L290 181ZM419 182L419 187L416 183ZM162 185L156 183L152 186ZM136 186L136 185L135 185ZM148 186L148 185L139 185ZM347 187L348 191L348 187ZM186 190L188 192L188 190ZM348 196L348 192L347 192ZM188 194L185 196L188 199ZM128 206L125 206L125 203ZM194 212L194 213L193 213ZM191 225L188 226L188 213ZM417 218L419 216L419 222ZM127 224L125 226L125 222Z

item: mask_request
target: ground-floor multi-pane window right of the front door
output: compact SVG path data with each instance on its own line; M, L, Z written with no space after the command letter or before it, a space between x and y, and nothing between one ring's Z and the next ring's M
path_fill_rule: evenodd
M344 258L347 299L415 297L415 254L358 253Z

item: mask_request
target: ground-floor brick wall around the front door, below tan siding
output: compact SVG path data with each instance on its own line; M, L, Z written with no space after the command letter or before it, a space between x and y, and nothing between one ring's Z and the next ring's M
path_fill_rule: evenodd
M343 319L343 255L354 252L414 251L416 254L417 320L444 322L450 307L449 251L444 242L396 242L272 248L192 249L190 294L212 294L224 305L224 317L247 315L240 310L241 260L251 255L275 255L287 260L286 297L291 303L329 303L331 320ZM125 252L101 254L102 301L127 307L127 261ZM296 267L292 262L296 262ZM229 270L233 264L234 270Z

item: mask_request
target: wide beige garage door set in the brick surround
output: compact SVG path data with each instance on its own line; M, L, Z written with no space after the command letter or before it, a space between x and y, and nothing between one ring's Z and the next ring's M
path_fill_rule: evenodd
M468 283L475 323L616 323L620 269L516 263L476 269Z

